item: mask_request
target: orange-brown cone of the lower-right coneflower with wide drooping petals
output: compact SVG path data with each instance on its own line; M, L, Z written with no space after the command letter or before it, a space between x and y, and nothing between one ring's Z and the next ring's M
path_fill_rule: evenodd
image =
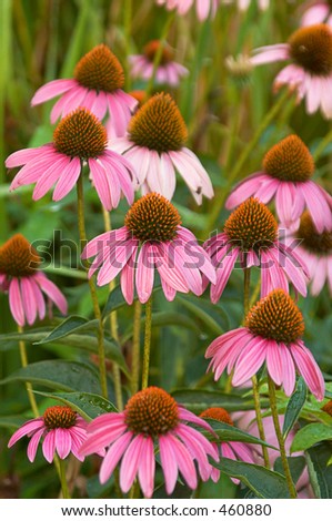
M283 289L274 289L255 304L245 317L245 327L254 335L292 344L304 333L303 317Z

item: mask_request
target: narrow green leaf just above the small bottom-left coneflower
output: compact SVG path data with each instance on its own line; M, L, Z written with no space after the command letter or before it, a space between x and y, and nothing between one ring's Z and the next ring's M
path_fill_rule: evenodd
M117 407L111 401L93 392L34 392L70 406L88 421L104 412L118 412Z

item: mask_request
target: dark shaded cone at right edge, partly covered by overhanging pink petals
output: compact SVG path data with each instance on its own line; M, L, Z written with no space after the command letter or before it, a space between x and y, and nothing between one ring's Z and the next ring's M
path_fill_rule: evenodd
M301 216L296 236L302 239L301 245L315 255L330 255L332 253L332 232L325 231L319 234L308 211Z

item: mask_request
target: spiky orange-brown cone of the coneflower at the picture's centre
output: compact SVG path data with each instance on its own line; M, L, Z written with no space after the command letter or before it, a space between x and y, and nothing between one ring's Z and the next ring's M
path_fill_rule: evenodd
M124 225L144 243L165 243L177 237L181 217L163 195L151 192L137 201L125 215Z

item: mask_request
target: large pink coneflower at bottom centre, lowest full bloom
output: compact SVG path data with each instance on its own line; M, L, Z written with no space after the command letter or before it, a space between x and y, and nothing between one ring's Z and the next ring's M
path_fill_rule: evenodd
M210 426L177 403L167 391L148 387L133 395L123 412L101 415L88 426L88 439L81 454L88 456L107 449L99 479L105 483L121 460L120 488L127 493L138 476L145 498L154 488L155 456L159 448L165 490L174 490L181 472L189 488L198 486L199 476L207 481L211 474L208 456L218 461L218 452L208 439L188 422L213 432Z

